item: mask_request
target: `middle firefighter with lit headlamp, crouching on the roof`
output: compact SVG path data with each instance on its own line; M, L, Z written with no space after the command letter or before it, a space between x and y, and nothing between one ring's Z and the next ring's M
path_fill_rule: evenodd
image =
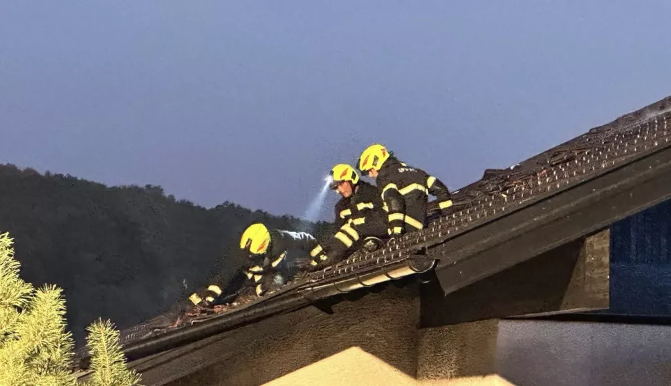
M365 247L374 250L387 238L387 213L380 191L360 180L356 170L347 164L331 169L329 186L342 196L335 204L335 235L310 252L313 268L319 269L340 262L353 250Z

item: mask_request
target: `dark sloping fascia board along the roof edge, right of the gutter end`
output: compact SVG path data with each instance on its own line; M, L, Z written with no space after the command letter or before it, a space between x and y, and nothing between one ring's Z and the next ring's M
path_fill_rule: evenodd
M452 293L671 198L671 148L428 249Z

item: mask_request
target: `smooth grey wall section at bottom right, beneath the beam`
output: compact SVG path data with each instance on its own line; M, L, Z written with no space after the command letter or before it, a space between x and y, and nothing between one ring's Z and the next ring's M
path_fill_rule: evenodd
M671 326L502 320L496 370L515 385L671 385Z

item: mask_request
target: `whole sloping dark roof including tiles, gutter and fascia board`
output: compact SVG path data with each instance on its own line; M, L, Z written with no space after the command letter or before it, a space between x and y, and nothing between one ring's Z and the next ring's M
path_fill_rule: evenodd
M567 219L580 220L579 214L585 212L582 209L602 202L603 197L615 199L614 194L623 189L650 185L655 181L651 171L669 172L670 139L671 97L666 97L520 164L486 170L481 180L454 191L451 215L433 215L425 229L394 239L378 251L356 252L335 267L306 275L264 298L176 329L149 322L122 331L125 354L130 360L142 358L322 298L414 273L435 270L443 289L456 291L671 197L671 184L658 182L654 189L647 189L647 195L637 194L636 200L623 200L622 196L619 209L604 207L600 218L585 220L583 216L578 225L567 226ZM631 197L632 193L625 195ZM432 212L435 209L432 205ZM561 229L571 231L562 233ZM545 232L547 237L542 243L520 242L522 235L540 234L533 232ZM483 264L495 260L487 251L511 245L520 248L517 260Z

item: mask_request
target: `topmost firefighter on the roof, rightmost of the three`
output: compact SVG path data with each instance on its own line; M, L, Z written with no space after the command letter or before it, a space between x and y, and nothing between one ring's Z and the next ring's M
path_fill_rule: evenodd
M448 187L433 175L399 161L387 148L374 144L361 153L359 170L376 179L389 212L389 235L401 235L426 226L428 195L439 202L441 214L452 206Z

